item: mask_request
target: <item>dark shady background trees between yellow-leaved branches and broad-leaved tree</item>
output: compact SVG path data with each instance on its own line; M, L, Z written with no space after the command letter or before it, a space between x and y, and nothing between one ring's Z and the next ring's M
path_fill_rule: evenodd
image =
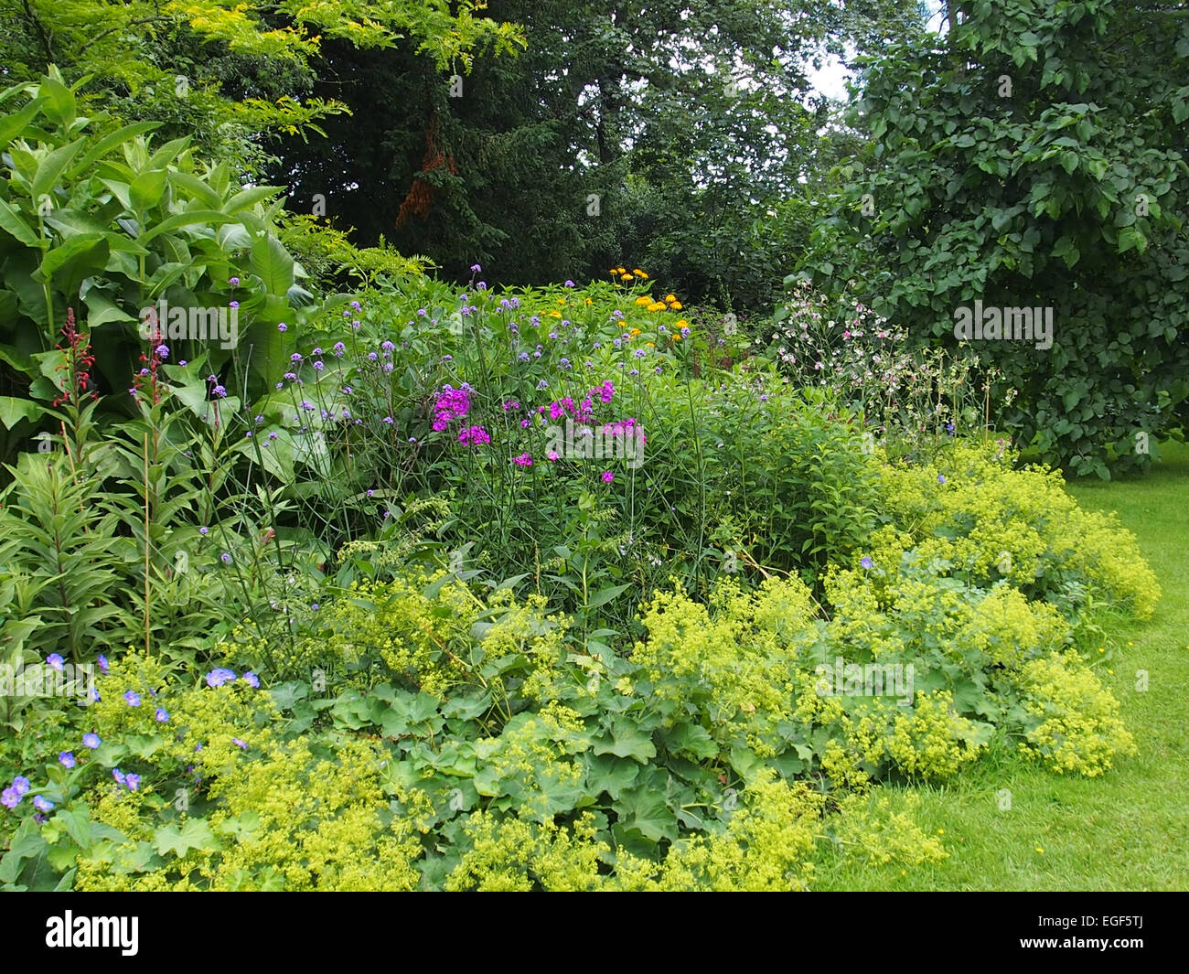
M295 205L325 195L358 240L384 235L447 276L478 262L531 284L630 263L691 299L760 306L804 240L772 213L816 171L825 118L806 64L919 27L914 4L861 6L873 19L819 0L498 0L527 50L460 84L409 51L325 45L314 93L354 115L290 139L273 175ZM359 138L356 119L378 133Z

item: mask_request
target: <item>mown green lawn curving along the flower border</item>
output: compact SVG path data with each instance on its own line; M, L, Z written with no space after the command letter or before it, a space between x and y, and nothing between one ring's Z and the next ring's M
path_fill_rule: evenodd
M948 860L907 874L845 863L823 869L816 888L1189 888L1189 448L1162 452L1146 477L1069 485L1086 508L1118 511L1164 592L1149 622L1113 626L1096 662L1139 753L1097 779L990 754L944 786L914 790L918 821L944 830ZM1138 670L1146 692L1135 689Z

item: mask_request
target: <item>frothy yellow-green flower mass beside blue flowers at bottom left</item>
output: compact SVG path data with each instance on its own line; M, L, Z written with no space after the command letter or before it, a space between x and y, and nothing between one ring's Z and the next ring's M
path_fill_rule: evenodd
M316 758L304 739L282 741L279 715L241 681L172 697L156 764L187 762L180 815L161 798L100 785L93 817L114 829L77 860L80 890L410 890L420 881L422 794L388 815L382 752L341 741ZM145 783L151 775L146 772ZM191 809L201 799L205 813ZM176 806L175 806L176 808ZM386 824L385 824L386 821ZM170 830L172 830L170 832ZM162 842L162 834L175 840ZM185 837L178 844L176 840Z

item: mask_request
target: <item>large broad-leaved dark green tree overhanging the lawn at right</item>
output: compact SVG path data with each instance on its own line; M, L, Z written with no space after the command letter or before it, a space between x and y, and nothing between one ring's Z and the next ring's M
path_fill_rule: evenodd
M996 427L1077 475L1146 467L1189 403L1189 25L1116 2L961 10L943 44L867 63L853 121L872 139L805 266L858 281L920 344L952 345L975 300L1052 309L1051 347L974 343L1002 370Z

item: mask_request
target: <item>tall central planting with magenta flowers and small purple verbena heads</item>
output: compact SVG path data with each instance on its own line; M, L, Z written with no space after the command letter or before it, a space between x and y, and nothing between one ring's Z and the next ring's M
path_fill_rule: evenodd
M250 434L240 476L276 485L294 530L455 573L528 571L584 626L630 623L674 571L696 587L743 563L812 582L873 523L855 415L759 362L724 371L743 339L624 283L493 295L410 279L332 302L277 388L228 417ZM466 415L435 428L449 396ZM449 514L410 543L397 526L430 501ZM382 560L353 558L339 584Z

